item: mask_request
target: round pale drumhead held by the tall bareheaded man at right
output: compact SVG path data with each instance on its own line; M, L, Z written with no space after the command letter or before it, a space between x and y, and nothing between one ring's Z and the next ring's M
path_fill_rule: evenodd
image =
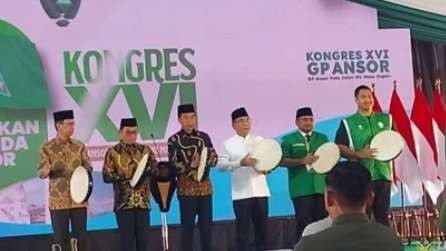
M370 148L376 148L375 159L390 161L396 159L403 151L404 142L401 135L394 131L383 131L373 137Z

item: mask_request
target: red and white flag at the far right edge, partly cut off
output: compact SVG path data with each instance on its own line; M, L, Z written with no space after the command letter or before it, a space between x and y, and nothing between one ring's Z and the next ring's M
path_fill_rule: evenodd
M446 153L445 153L445 132L446 132L446 106L443 102L440 89L440 81L435 83L434 102L433 102L433 130L435 136L435 145L437 146L438 158L438 176L446 181Z

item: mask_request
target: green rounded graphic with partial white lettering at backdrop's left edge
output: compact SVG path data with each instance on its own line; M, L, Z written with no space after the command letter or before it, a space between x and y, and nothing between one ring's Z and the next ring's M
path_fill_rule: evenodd
M0 20L0 189L36 176L47 140L48 87L31 40ZM22 94L22 95L20 95ZM32 99L28 94L32 94Z

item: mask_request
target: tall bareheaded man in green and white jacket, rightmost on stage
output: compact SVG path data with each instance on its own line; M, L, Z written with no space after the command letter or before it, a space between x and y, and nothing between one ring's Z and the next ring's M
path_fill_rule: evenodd
M375 194L370 209L376 222L389 226L392 165L374 158L376 149L370 148L370 142L378 133L392 129L392 119L388 114L373 111L374 100L368 86L355 89L355 101L358 111L341 121L335 141L343 157L359 161L369 170Z

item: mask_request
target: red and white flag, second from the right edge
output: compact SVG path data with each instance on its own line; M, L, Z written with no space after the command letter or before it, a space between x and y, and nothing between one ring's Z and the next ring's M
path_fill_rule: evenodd
M412 132L423 184L435 204L438 196L443 191L443 182L438 179L438 156L432 125L432 113L421 89L421 82L417 83L415 89L411 119L414 123Z

